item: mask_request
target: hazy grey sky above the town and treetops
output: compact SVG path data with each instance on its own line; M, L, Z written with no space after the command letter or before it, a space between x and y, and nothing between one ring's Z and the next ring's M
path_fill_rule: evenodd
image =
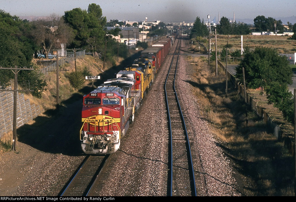
M198 16L211 20L218 12L220 17L236 19L254 19L258 15L265 17L290 17L296 13L295 0L0 0L0 9L17 16L49 16L56 13L60 16L65 11L80 7L87 9L90 3L101 6L107 20L164 22L194 22Z

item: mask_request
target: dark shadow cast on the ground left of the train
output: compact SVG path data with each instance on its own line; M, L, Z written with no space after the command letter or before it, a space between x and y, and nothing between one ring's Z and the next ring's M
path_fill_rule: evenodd
M123 60L120 65L106 70L101 80L95 82L99 86L105 80L114 78L115 73L123 70L134 59L139 58L140 52ZM49 109L46 116L37 116L32 125L25 124L17 129L18 141L48 153L62 153L65 155L81 155L80 135L81 109L83 94L91 92L92 88L85 86L74 93L69 99L62 101L59 109Z

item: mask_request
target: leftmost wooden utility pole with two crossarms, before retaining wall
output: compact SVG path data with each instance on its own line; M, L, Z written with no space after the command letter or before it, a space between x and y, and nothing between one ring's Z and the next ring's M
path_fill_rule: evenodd
M14 68L0 67L0 69L10 69L15 74L13 90L0 90L0 92L3 92L3 91L13 92L12 149L13 149L13 151L15 151L16 150L16 142L17 142L17 92L18 91L23 91L23 92L33 91L33 90L17 90L17 73L20 70L34 70L34 69L33 68L25 68L25 67L24 68L17 68L17 66L15 66Z

